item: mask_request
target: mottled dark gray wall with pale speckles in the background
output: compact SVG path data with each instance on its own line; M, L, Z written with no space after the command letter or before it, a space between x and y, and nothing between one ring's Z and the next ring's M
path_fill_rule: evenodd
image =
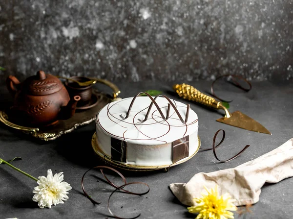
M293 77L293 0L0 0L0 80Z

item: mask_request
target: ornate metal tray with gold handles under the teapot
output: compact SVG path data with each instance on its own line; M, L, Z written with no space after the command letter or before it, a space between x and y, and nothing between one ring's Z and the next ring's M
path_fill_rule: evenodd
M120 94L119 89L116 85L112 84L109 81L99 79L98 82L103 83L113 90L113 96L100 93L97 90L93 89L93 94L97 97L97 104L94 107L87 110L76 110L76 113L68 120L60 120L56 125L48 127L26 127L12 122L13 120L10 117L13 115L9 114L9 109L0 110L0 122L3 122L5 125L20 130L23 133L29 134L35 138L51 141L59 138L63 134L72 132L77 129L79 126L89 124L94 121L98 111L103 108L107 103L120 99L117 97ZM8 116L9 115L9 116Z

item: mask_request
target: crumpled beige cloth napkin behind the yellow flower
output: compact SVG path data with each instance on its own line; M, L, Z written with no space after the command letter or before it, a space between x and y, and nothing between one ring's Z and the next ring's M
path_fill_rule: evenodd
M293 176L293 138L254 160L236 168L195 174L188 183L170 184L173 194L183 203L194 205L194 197L201 197L208 189L219 186L219 195L229 193L236 206L254 204L259 200L265 184L277 183Z

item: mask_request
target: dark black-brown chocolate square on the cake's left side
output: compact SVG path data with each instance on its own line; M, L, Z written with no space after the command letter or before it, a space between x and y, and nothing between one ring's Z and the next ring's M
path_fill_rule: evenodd
M111 160L126 163L127 142L111 138Z

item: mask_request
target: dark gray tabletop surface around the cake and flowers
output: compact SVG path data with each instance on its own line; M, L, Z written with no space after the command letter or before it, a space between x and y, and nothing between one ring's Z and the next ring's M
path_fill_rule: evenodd
M146 219L179 219L194 218L188 213L186 206L170 192L168 185L176 182L188 182L198 172L211 172L234 168L247 161L265 154L282 145L293 137L293 86L292 80L286 82L252 82L252 90L248 93L220 83L216 89L218 94L227 98L234 98L230 103L230 111L240 110L251 116L268 128L272 135L259 134L240 128L235 128L219 122L220 112L209 110L195 103L191 108L198 114L199 136L202 147L210 147L214 133L218 129L226 130L226 139L218 153L223 159L228 158L246 145L251 145L240 157L228 163L215 160L212 151L200 151L191 160L170 168L168 172L124 172L128 182L143 181L150 186L150 192L143 196L116 193L111 200L113 212L122 217L132 217L141 213ZM209 90L210 82L190 82L199 90ZM131 97L140 91L157 89L171 98L178 99L171 89L171 84L162 82L117 83L121 88L121 97ZM98 85L97 85L98 86ZM100 87L104 90L104 87ZM108 91L108 90L107 90ZM9 99L5 88L0 89L1 104ZM187 101L181 100L185 103ZM46 175L48 169L64 172L64 179L70 183L69 200L64 204L53 206L51 209L40 209L32 201L33 188L36 182L11 168L0 165L0 219L17 217L19 219L32 218L107 218L107 198L112 188L97 177L101 174L92 171L85 181L87 192L100 205L93 205L84 197L81 189L81 178L89 168L102 164L91 148L91 136L95 132L95 125L91 123L72 133L63 135L52 142L35 141L25 135L0 125L0 157L9 160L20 156L22 161L13 164L21 170L27 171L35 177ZM119 183L119 178L111 176ZM247 219L289 219L292 218L293 208L293 179L285 179L277 184L265 185L262 188L260 200L253 205L253 214ZM236 215L235 218L238 216Z

